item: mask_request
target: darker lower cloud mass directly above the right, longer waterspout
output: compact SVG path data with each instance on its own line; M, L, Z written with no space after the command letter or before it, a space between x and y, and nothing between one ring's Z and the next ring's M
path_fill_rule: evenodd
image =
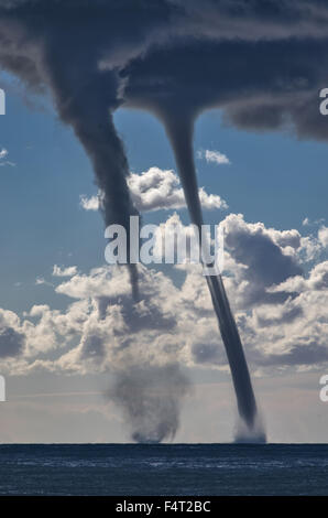
M328 40L197 41L154 50L123 76L131 105L194 118L220 107L245 129L293 125L302 137L327 139L319 89L328 84Z

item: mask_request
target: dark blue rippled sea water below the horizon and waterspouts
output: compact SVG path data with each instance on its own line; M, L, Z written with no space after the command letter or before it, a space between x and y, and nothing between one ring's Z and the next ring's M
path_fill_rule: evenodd
M328 445L0 445L1 495L328 495Z

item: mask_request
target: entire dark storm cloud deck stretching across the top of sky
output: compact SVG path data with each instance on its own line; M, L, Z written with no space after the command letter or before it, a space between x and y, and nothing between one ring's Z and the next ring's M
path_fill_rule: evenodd
M97 105L122 101L193 117L220 106L241 127L292 120L299 134L327 137L318 112L327 80L322 1L2 1L1 20L2 66L50 86L81 139L77 109L88 104L92 120Z

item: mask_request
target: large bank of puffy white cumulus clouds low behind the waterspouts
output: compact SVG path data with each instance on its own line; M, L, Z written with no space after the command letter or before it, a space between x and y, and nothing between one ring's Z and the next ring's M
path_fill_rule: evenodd
M176 215L166 222L183 227ZM328 366L328 260L303 268L308 236L230 214L225 227L225 283L252 370ZM188 233L188 227L182 228ZM326 258L327 259L327 258ZM65 272L57 267L55 272ZM74 267L69 267L74 268ZM134 303L128 269L70 270L53 289L65 310L34 305L22 316L0 309L0 371L116 370L133 365L227 369L227 358L199 266L168 272L139 266Z

